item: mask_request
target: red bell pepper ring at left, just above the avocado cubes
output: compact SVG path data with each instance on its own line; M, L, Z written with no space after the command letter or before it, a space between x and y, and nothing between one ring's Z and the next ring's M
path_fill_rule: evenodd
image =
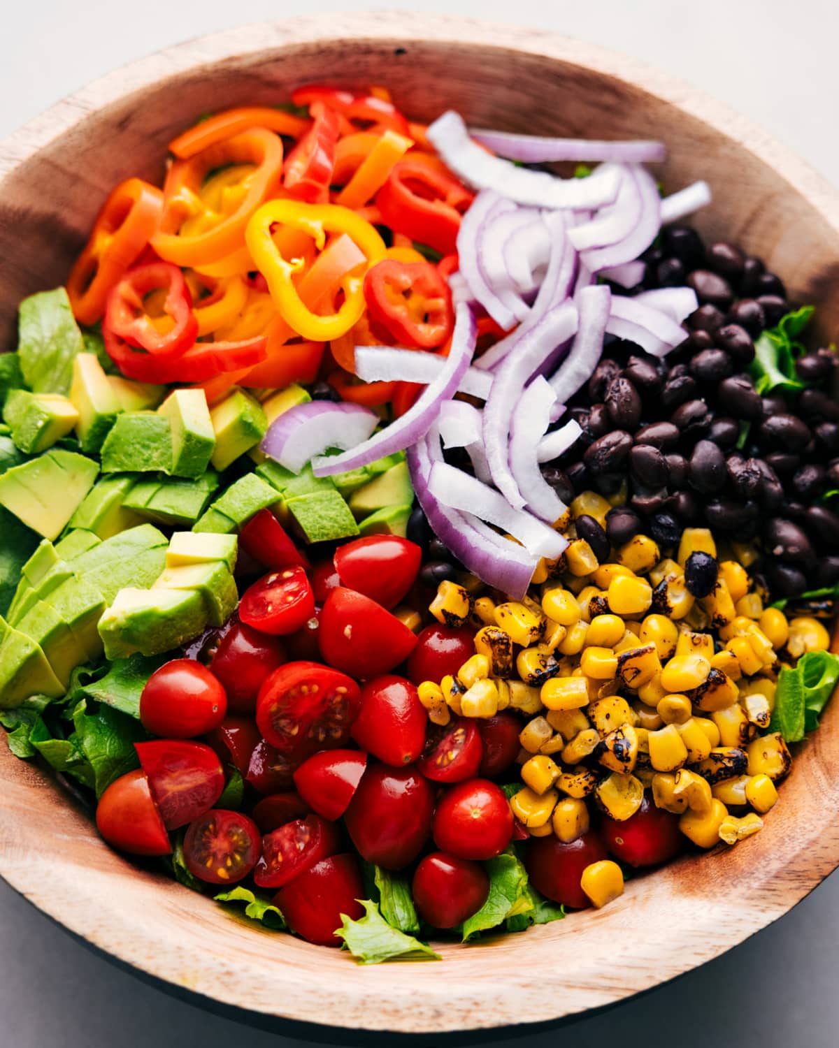
M146 311L146 296L165 291L163 304L171 321L162 331ZM134 349L144 349L154 357L179 356L194 345L198 322L192 311L192 296L184 274L171 262L151 262L129 271L108 296L103 331L108 330Z

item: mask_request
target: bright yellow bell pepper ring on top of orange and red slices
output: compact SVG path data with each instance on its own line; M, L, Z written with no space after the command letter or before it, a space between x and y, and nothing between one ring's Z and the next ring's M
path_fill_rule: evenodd
M300 298L294 278L304 266L301 259L287 259L280 252L272 230L293 226L315 241L318 250L326 245L327 234L346 234L367 260L366 267L347 271L341 280L344 301L338 312L319 315ZM385 258L387 248L375 228L356 212L339 204L270 200L251 218L245 242L256 267L265 278L277 311L288 326L313 342L330 342L359 322L365 309L364 272Z

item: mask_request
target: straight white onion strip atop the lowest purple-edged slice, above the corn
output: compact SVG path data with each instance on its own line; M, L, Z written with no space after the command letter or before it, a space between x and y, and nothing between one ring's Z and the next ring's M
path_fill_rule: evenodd
M533 556L557 560L568 546L558 531L537 520L533 514L513 509L502 495L475 477L455 470L446 462L435 462L428 478L428 490L450 509L475 517L512 534Z

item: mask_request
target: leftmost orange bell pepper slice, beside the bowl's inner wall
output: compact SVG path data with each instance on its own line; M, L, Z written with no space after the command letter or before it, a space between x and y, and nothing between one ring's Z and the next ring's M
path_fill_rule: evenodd
M163 213L163 193L142 178L121 182L105 201L67 279L67 294L80 324L101 320L108 296L148 246Z

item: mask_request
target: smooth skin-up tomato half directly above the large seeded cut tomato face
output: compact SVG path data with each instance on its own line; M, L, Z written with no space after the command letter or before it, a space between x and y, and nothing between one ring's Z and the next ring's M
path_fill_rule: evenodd
M363 593L339 586L321 612L321 655L353 677L381 677L413 651L416 637Z

